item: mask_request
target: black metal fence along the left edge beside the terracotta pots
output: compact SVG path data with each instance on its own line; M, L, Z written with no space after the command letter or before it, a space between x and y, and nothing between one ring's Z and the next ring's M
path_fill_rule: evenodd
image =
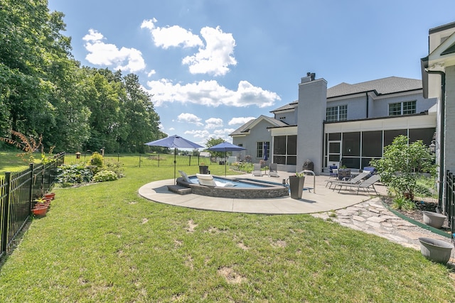
M0 177L0 259L31 217L33 199L53 186L57 167L63 165L65 153L46 164L30 164L21 172L6 172Z

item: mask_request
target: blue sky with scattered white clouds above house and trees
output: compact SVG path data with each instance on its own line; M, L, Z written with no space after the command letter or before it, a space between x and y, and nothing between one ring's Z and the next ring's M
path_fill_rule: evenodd
M306 72L421 79L429 28L455 21L453 0L48 2L76 60L138 75L162 131L200 145L296 100Z

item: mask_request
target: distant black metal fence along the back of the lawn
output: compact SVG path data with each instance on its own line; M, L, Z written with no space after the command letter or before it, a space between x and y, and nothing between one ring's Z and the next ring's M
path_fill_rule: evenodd
M77 162L84 162L89 164L92 154L65 154L65 164L74 164ZM173 166L174 156L168 154L158 155L121 155L121 154L105 154L104 160L122 163L124 167L161 167ZM193 155L178 155L175 158L177 165L205 165L210 164L210 158L199 157Z

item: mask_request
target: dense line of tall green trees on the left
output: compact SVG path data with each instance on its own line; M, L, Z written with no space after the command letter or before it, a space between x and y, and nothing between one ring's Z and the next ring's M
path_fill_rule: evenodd
M0 136L12 130L42 135L56 152L107 153L143 153L166 137L137 75L74 59L64 16L47 0L0 0Z

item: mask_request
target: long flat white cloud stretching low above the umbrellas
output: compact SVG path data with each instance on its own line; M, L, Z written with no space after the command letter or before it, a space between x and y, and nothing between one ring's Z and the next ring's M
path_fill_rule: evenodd
M173 84L171 80L160 79L147 82L148 92L153 94L155 106L163 106L166 102L193 103L217 107L220 105L235 107L267 107L281 100L278 94L250 82L240 81L236 91L227 89L215 80L200 81L188 84Z

